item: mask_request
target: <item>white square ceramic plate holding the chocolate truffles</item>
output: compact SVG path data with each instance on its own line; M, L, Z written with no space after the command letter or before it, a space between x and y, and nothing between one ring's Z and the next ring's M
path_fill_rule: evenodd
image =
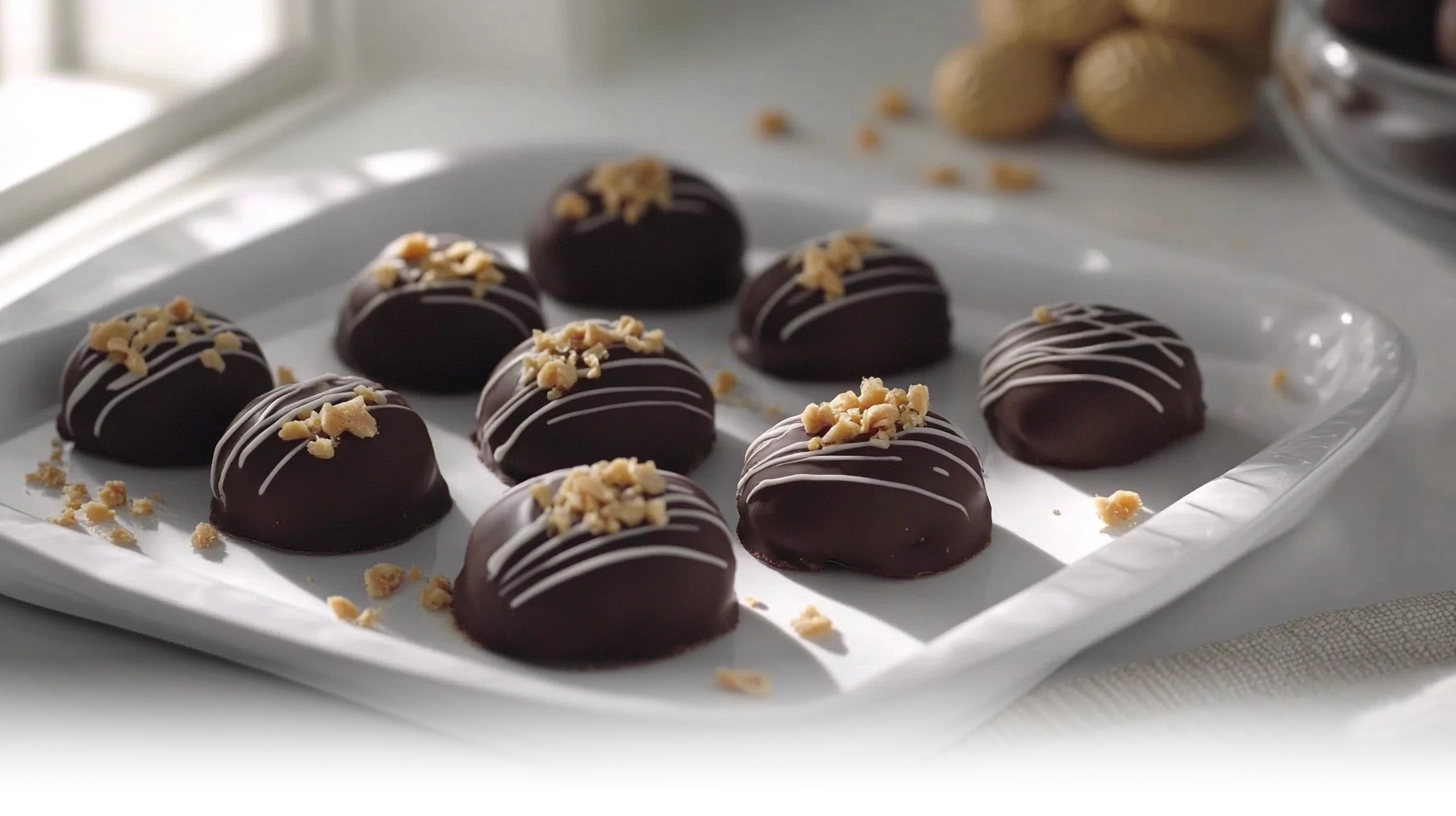
M812 195L722 179L756 248L868 224L922 251L952 291L955 356L890 385L929 385L936 409L984 458L996 532L958 570L914 581L780 573L740 551L738 592L766 609L745 608L735 632L687 654L598 673L485 653L448 615L421 609L416 592L380 602L377 631L335 621L322 599L363 602L370 564L459 571L472 522L504 490L469 443L470 395L411 396L456 509L392 551L320 558L227 542L204 557L188 535L207 517L205 469L84 455L68 458L73 478L160 491L163 511L140 526L134 549L45 522L60 498L26 487L23 474L50 453L58 372L84 321L186 294L237 319L274 364L342 372L328 342L333 316L345 283L384 242L430 229L514 243L559 179L630 153L412 152L277 179L128 239L0 312L0 592L568 768L680 787L839 782L948 745L1077 651L1296 525L1385 430L1412 382L1399 332L1338 294L964 195L865 201L843 178L805 168L795 189ZM1137 465L1091 472L1029 468L997 450L976 409L977 356L1006 323L1061 300L1127 306L1174 326L1204 373L1207 430ZM550 323L588 315L547 305ZM738 364L727 342L731 305L638 316L709 373L738 373L740 393L757 405L796 409L858 385L782 383ZM1270 386L1275 369L1290 374L1284 392ZM693 478L729 526L743 452L773 421L719 405L718 449ZM1120 488L1139 491L1153 514L1115 535L1091 497ZM794 634L789 621L808 603L834 621L836 638ZM718 666L769 673L775 697L715 691Z

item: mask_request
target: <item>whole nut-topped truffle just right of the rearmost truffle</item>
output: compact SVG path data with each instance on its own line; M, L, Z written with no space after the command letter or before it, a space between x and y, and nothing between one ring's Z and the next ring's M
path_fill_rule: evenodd
M914 252L862 230L836 233L744 287L734 351L791 380L900 373L949 354L949 297Z

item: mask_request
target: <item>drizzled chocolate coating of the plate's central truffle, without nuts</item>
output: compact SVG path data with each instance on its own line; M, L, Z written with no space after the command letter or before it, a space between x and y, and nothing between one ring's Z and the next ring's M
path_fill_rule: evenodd
M712 453L712 388L674 348L642 354L612 345L598 379L581 369L571 391L547 399L534 382L521 385L520 357L530 347L523 342L501 363L476 408L480 460L508 484L616 458L687 474Z

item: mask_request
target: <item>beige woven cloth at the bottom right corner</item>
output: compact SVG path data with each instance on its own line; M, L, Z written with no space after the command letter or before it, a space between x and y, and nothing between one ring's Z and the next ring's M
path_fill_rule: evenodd
M1456 593L1038 688L911 768L807 797L1456 797Z

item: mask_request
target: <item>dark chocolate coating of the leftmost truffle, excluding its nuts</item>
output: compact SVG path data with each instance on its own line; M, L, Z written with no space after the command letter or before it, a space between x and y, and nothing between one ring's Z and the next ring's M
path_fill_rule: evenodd
M213 348L213 340L195 325L188 328L197 337L182 350L169 332L143 354L147 376L141 379L82 338L61 373L61 414L55 420L60 437L74 442L77 450L128 465L211 462L213 446L227 424L249 399L271 389L274 379L252 335L221 315L198 312L207 315L213 334L230 331L243 341L237 351L218 351L221 372L202 366L199 354Z

